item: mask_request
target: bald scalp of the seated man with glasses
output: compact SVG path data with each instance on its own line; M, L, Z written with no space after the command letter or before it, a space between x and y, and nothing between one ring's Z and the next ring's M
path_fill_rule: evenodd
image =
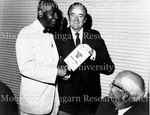
M140 99L145 94L144 80L137 73L129 70L122 71L115 77L115 81L132 97Z

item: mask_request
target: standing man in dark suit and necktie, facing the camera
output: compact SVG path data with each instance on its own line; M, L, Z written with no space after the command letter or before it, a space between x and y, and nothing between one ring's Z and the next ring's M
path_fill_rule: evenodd
M59 115L94 115L101 97L99 74L110 75L115 68L100 33L83 28L86 15L87 9L83 4L72 4L68 9L70 27L55 35L60 55L58 66L66 65L63 60L78 44L90 53L77 70L68 72L69 77L58 78Z

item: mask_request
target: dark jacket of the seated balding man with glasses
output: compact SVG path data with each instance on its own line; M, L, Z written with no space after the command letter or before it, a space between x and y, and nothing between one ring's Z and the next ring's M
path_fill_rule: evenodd
M104 101L105 100L105 101ZM107 100L107 101L106 101ZM113 115L115 110L114 104L108 98L99 103L96 115ZM135 103L123 115L149 115L148 100Z

